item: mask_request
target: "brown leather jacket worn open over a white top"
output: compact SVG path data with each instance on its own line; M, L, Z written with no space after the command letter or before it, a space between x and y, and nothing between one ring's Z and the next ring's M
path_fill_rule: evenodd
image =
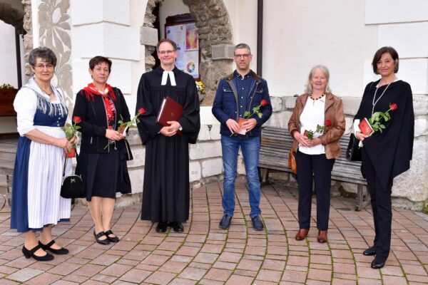
M303 94L296 99L295 108L288 121L290 135L292 135L294 130L300 132L300 115L303 112L303 108L305 108L308 97L308 94ZM339 139L345 132L345 115L343 115L342 99L332 93L325 95L325 120L330 120L332 125L326 126L325 133L318 138L320 138L322 145L325 146L325 156L330 160L340 157ZM293 140L292 151L295 152L297 146L297 140Z

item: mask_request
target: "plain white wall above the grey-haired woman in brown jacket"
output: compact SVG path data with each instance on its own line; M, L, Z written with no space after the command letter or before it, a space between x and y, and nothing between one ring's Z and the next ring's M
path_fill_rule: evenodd
M264 18L263 76L271 95L301 94L317 64L329 68L333 93L362 95L364 63L377 48L377 26L365 26L364 1L316 7L313 1L275 1L265 5Z

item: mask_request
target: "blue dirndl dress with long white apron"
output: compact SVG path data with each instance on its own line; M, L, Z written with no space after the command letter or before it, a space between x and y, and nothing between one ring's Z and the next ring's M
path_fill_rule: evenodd
M49 115L49 108L57 108ZM65 138L61 130L67 113L60 104L51 103L36 109L34 127L54 138ZM11 229L17 232L41 230L48 224L70 220L71 199L61 197L64 152L61 147L19 137L12 184ZM66 175L71 173L67 160Z

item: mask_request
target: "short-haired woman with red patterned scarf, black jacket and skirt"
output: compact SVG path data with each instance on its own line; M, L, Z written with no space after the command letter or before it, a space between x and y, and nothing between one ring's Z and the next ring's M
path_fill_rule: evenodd
M99 244L118 242L111 231L116 192L131 193L126 166L125 135L118 133L118 121L131 120L121 90L108 85L111 61L96 56L89 61L93 82L76 95L73 117L81 118L81 154L77 170L86 184L86 200L91 210Z

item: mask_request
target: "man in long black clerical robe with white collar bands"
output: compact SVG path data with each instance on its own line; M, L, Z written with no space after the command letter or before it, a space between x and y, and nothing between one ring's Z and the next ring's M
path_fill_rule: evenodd
M159 41L156 51L161 66L141 76L136 105L137 112L146 110L138 123L146 145L141 219L158 222L156 232L168 225L183 232L190 204L188 144L196 142L200 129L198 91L192 76L175 67L173 41ZM156 118L165 96L183 106L183 116L163 127Z

